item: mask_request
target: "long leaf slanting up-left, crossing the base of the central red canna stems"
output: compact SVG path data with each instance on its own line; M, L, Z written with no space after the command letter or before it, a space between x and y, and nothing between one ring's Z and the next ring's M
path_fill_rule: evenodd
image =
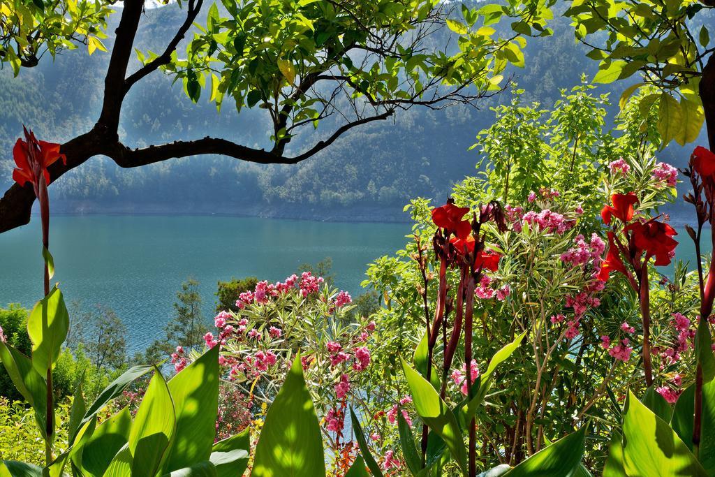
M423 423L443 438L458 466L466 472L467 457L457 418L420 373L410 368L404 359L402 365L418 415Z

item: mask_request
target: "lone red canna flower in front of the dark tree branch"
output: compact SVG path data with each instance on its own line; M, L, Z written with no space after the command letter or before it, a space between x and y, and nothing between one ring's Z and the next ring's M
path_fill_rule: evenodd
M54 164L57 159L62 159L62 162L67 164L67 158L59 152L59 144L38 141L33 132L28 132L24 127L23 129L26 140L17 139L12 149L12 156L17 166L12 171L12 178L21 186L31 182L37 194L41 175L44 176L45 185L49 184L47 167Z

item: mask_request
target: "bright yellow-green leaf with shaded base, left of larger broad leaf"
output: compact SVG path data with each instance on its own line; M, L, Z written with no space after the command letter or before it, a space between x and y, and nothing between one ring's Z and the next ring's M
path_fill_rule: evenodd
M154 476L166 461L177 421L164 376L157 368L129 431L132 475Z

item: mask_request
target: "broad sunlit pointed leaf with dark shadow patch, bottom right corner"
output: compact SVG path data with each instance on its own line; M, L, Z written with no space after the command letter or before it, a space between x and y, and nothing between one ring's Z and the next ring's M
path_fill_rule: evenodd
M623 408L623 468L628 476L706 476L681 438L628 391Z

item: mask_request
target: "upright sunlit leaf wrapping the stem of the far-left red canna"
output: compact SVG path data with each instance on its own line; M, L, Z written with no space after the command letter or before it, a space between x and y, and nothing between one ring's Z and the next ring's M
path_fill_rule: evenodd
M27 334L32 341L32 365L44 376L59 357L69 330L69 314L59 288L36 303L27 318Z

